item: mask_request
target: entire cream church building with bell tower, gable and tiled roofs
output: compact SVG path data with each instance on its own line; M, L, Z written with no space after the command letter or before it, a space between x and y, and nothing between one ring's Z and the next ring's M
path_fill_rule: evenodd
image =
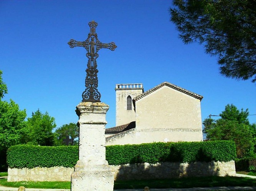
M106 145L202 141L203 96L164 82L144 92L142 84L116 85L116 127Z

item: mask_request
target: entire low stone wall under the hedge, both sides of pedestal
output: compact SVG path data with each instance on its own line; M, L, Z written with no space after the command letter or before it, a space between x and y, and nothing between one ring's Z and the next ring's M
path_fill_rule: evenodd
M114 180L176 178L182 176L235 176L235 162L163 162L112 166ZM74 168L9 168L7 181L70 181Z

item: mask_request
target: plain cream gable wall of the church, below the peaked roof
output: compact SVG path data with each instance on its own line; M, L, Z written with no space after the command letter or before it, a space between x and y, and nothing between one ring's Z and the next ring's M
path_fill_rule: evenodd
M162 131L159 141L202 140L200 100L167 86L137 100L135 118L140 134ZM173 133L166 136L168 131Z

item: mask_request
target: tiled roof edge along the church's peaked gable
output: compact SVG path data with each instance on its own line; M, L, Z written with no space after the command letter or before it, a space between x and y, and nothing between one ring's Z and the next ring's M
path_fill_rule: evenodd
M168 82L163 82L162 84L159 84L158 86L153 87L152 89L144 92L143 94L138 95L137 97L134 98L134 101L137 101L137 100L141 99L142 97L145 97L145 96L151 94L152 92L156 91L157 89L160 89L163 86L168 86L168 87L170 87L172 89L175 89L175 90L177 90L179 92L182 92L182 93L190 95L190 96L192 96L192 97L194 97L196 99L199 99L200 101L203 99L203 96L198 95L198 94L196 94L194 92L190 92L190 91L188 91L186 89L183 89L182 87L178 87L178 86L176 86L174 84L171 84L171 83L168 83Z

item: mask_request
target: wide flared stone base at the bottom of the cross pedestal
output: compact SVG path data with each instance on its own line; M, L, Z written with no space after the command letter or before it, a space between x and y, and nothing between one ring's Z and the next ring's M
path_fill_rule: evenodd
M71 191L113 191L114 172L108 165L88 166L77 163L71 174Z

